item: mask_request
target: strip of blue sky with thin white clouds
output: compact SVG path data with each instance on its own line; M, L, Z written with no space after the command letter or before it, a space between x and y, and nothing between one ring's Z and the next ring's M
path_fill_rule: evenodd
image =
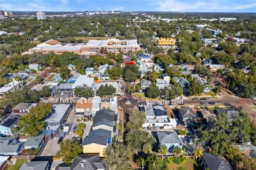
M0 0L4 11L256 12L256 0Z

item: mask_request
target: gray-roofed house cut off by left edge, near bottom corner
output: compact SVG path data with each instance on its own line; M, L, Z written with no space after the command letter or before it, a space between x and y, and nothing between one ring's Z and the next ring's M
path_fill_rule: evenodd
M18 137L0 136L0 155L19 155L24 142L19 142Z

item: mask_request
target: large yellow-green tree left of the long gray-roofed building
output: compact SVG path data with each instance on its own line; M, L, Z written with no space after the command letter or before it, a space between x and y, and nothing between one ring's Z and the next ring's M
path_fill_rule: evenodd
M13 129L14 133L37 136L44 127L43 118L51 113L51 107L47 104L40 104L29 110L29 113L21 116L18 126Z

